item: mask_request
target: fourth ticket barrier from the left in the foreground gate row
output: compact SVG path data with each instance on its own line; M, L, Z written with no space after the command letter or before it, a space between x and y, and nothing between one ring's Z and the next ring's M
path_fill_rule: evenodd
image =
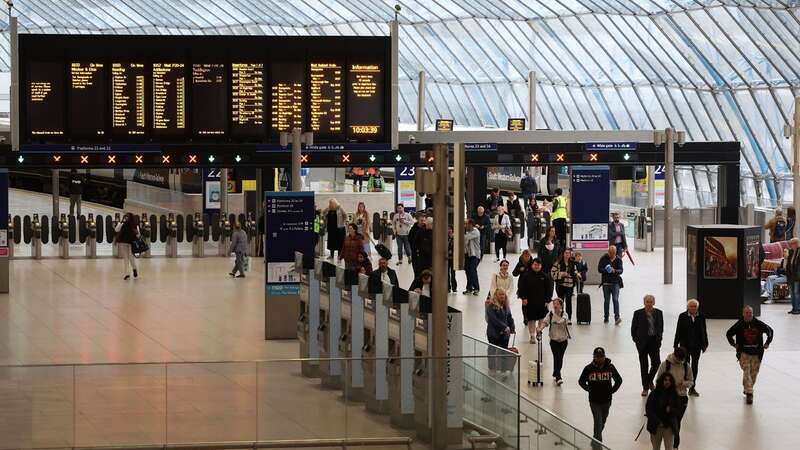
M369 283L364 301L364 398L367 411L374 414L389 412L389 308L383 301L384 286L388 285ZM391 295L392 289L385 291Z

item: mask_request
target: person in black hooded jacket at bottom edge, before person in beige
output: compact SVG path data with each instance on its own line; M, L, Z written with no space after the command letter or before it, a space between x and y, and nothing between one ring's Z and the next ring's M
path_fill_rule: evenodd
M675 437L678 436L677 412L678 391L675 389L675 378L669 372L664 372L658 377L655 389L647 397L644 410L647 416L647 432L650 433L650 443L653 450L672 450ZM675 447L677 448L677 447Z

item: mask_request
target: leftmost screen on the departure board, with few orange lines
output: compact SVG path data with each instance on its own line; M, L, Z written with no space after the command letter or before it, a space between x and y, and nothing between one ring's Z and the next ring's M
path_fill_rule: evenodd
M64 134L64 66L31 62L27 83L28 130L31 136Z

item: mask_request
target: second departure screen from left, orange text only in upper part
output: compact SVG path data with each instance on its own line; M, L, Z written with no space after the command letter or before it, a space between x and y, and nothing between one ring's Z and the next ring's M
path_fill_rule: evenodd
M106 65L73 62L69 68L69 130L76 136L106 134Z

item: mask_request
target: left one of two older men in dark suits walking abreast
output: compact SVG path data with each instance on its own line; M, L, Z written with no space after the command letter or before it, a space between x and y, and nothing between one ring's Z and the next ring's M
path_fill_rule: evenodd
M653 379L661 364L661 338L664 335L664 315L655 307L656 298L644 296L644 308L633 313L631 337L639 352L639 369L642 375L642 397L647 397L650 389L655 389ZM650 358L650 367L647 367Z

